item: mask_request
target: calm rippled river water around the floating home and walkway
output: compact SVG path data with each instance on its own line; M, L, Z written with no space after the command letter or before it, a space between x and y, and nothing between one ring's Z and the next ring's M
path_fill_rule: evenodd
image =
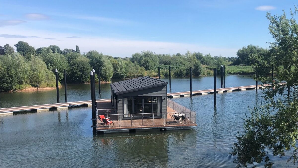
M194 78L193 90L211 89L213 79ZM226 77L226 87L254 84L250 77ZM109 98L109 84L101 87L97 98ZM168 92L188 90L188 78L173 78ZM55 94L1 93L0 108L55 103ZM89 100L90 85L68 85L68 96L69 101ZM262 101L260 96L261 90L218 94L216 109L213 94L174 98L197 111L198 126L183 131L93 135L88 107L0 115L0 167L235 167L229 152L237 132L243 132L248 108ZM274 167L288 166L287 158L272 158Z

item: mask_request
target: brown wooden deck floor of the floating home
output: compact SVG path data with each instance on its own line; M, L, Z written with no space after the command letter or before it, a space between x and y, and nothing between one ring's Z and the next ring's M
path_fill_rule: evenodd
M195 127L193 121L185 119L181 123L175 123L174 118L171 116L175 113L173 109L167 107L167 116L165 118L150 118L150 119L126 119L126 120L114 120L114 126L103 126L100 120L97 121L97 131L113 131L113 130L134 130L134 129L150 129L150 128L169 128L169 127ZM121 125L120 125L121 124Z

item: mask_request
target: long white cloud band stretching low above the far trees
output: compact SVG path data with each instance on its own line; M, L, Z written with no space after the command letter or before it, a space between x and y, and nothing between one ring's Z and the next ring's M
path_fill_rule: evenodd
M0 32L6 34L13 34L18 32L17 27L11 29L5 29L0 27ZM38 36L42 38L26 38L25 42L32 45L34 48L47 47L49 45L58 45L61 49L69 48L74 49L78 45L80 47L81 53L88 52L90 50L97 50L98 52L103 52L106 55L111 55L114 57L130 57L136 52L142 52L143 50L151 50L157 54L176 54L176 53L186 53L187 50L192 52L201 52L204 54L210 53L211 56L222 56L231 57L236 56L238 48L223 48L223 47L213 47L213 46L202 46L198 44L187 44L187 43L175 43L175 42L163 42L163 41L146 41L146 40L131 40L126 38L106 38L106 37L84 37L80 38L68 38L74 36L70 33L52 33L44 32L42 30L32 30L23 29L22 33L26 35L25 37ZM80 36L80 35L79 35ZM46 37L57 38L54 44L45 39ZM17 44L18 41L24 41L24 38L6 38L1 39L0 45L10 44L13 46Z

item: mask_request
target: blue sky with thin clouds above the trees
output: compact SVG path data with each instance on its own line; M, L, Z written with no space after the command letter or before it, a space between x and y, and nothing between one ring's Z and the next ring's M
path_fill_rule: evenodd
M296 3L296 4L295 4ZM236 56L269 47L266 12L289 13L296 1L1 1L0 45L25 41L97 50L114 57L151 50Z

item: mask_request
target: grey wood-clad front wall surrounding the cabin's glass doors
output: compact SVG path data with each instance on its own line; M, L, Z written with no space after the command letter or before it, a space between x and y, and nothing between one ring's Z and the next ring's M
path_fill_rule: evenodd
M118 95L118 114L124 113L123 97L133 96L162 96L162 112L167 112L167 85Z

